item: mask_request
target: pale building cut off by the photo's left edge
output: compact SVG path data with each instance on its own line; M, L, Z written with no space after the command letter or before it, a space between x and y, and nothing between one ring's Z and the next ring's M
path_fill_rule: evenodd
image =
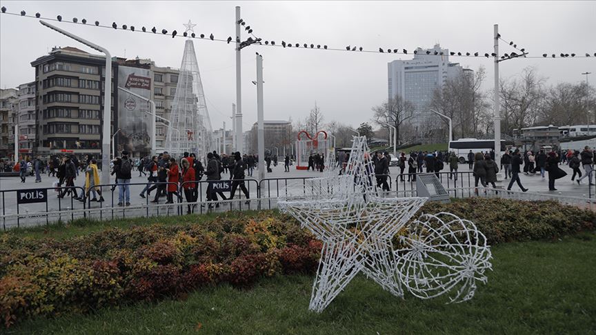
M14 124L18 110L18 90L0 89L0 158L14 159Z

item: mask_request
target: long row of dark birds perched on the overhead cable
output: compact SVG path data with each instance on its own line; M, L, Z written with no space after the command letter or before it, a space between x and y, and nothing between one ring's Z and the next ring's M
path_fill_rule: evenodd
M29 17L29 18L35 18L35 19L44 19L44 20L48 20L48 21L58 21L58 22L63 22L63 23L72 23L72 24L80 24L80 25L87 25L87 19L81 19L79 21L79 19L77 19L77 17L73 17L70 21L66 21L63 20L63 18L61 17L61 15L57 15L57 17L54 18L50 18L50 17L41 17L41 14L39 14L39 12L37 12L34 15L28 15L25 10L21 10L20 13L13 13L13 12L7 12L6 7L2 7L1 8L1 14L9 14L9 15L14 15L14 16L21 16L21 17ZM378 50L366 50L365 48L363 48L362 46L357 46L357 45L347 45L345 48L330 48L328 45L326 44L315 44L315 43L287 43L285 40L281 41L281 45L279 43L276 43L275 41L272 40L266 40L263 41L260 37L256 37L255 34L252 33L252 28L250 27L250 25L248 25L246 23L246 21L244 21L243 19L240 19L238 21L239 24L241 24L241 26L244 26L246 32L248 32L248 34L250 34L252 37L248 37L248 39L246 39L246 41L239 41L240 38L237 37L237 42L240 43L240 49L242 48L246 48L246 46L248 45L252 45L252 44L257 44L257 45L261 45L261 46L270 46L270 47L278 47L278 48L304 48L304 49L312 49L312 50L328 50L328 51L342 51L342 52L367 52L367 53L388 53L388 54L419 54L418 50L414 50L413 52L408 52L408 49L405 48L379 48ZM195 34L194 32L192 32L192 34L190 34L190 36L188 35L187 32L184 32L183 34L178 34L177 30L172 30L171 33L168 34L168 30L166 29L161 29L161 31L158 31L158 29L153 26L151 29L142 26L141 30L139 30L138 28L135 28L135 26L127 26L126 24L123 24L121 26L119 26L116 22L112 22L112 24L110 26L104 26L102 24L99 23L99 21L95 21L94 26L99 27L99 28L110 28L110 29L115 29L115 30L126 30L126 31L130 31L130 32L144 32L144 33L148 33L148 34L157 34L158 32L161 32L161 35L169 35L172 38L175 37L190 37L193 39L210 39L210 41L217 41L217 42L226 42L226 43L230 43L232 42L232 37L228 37L227 39L217 39L215 38L215 35L210 33L209 36L206 36L206 34ZM254 37L254 38L253 38ZM506 41L505 39L501 38L501 34L498 34L497 38L499 38L501 41L504 41L505 43L507 43L508 45L512 46L515 50L521 52L521 54L518 54L517 52L510 52L510 53L506 53L501 55L501 59L499 59L499 61L505 61L508 59L513 59L513 58L518 58L518 57L523 57L523 58L528 58L528 59L542 59L542 58L547 58L549 53L543 53L542 57L539 56L528 56L528 52L526 52L526 50L524 48L517 48L517 44L513 43L513 41ZM424 53L422 54L426 54L426 55L434 55L434 56L445 56L445 55L450 55L451 57L486 57L486 58L490 58L490 57L495 57L495 53L494 52L484 52L484 54L482 52L442 52L442 51L430 51L430 50L423 50ZM596 57L596 52L594 52L593 54L590 54L590 52L586 52L584 56L579 56L579 54L576 53L568 53L568 52L559 52L559 53L550 53L550 57L549 58L588 58L588 57Z

